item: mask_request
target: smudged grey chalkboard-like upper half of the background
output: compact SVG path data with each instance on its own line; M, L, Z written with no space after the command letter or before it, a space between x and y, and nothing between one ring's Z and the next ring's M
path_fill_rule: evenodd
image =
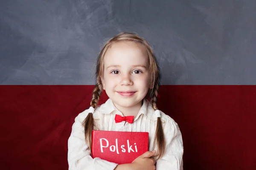
M256 84L255 0L1 0L0 84L93 85L121 31L151 42L163 85Z

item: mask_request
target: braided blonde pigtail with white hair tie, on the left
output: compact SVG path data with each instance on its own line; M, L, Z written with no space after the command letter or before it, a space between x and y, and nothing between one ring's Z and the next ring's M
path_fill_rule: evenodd
M99 102L99 97L102 94L102 90L103 90L102 82L100 80L100 77L98 76L96 79L96 85L93 89L92 100L90 102L91 110L89 109L90 113L87 115L87 117L84 119L84 122L83 122L85 142L89 147L90 152L91 152L91 146L92 146L92 130L94 127L93 112Z

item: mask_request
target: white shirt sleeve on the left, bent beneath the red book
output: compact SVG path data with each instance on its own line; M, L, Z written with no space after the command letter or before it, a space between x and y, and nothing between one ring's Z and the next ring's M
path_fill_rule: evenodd
M105 161L100 158L92 158L90 150L84 139L84 126L82 122L87 116L87 112L80 113L75 118L71 135L68 139L68 164L69 170L113 170L117 164Z

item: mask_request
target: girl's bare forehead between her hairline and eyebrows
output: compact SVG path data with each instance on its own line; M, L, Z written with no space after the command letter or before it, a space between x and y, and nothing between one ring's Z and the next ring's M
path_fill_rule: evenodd
M104 56L104 65L145 65L148 66L148 54L144 45L136 42L115 42Z

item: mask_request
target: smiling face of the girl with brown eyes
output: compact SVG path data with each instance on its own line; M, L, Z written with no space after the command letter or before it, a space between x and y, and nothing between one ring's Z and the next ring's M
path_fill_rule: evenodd
M118 108L141 105L150 85L145 47L135 42L116 42L104 56L103 89Z

